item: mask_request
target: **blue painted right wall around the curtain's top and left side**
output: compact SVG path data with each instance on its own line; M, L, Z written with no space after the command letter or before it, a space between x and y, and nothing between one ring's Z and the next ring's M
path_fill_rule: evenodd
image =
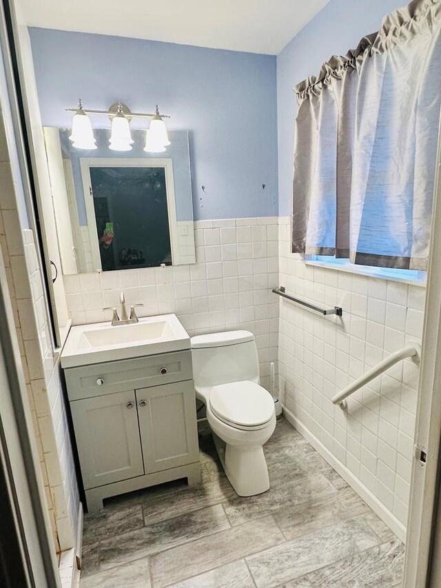
M279 214L291 214L294 123L297 112L294 86L331 55L345 55L366 34L381 26L382 17L406 4L404 0L331 0L277 57Z

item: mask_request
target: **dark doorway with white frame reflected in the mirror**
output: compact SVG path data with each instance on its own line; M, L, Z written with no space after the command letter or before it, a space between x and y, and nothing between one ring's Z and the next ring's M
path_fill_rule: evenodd
M171 159L85 158L81 176L94 267L105 272L172 265Z

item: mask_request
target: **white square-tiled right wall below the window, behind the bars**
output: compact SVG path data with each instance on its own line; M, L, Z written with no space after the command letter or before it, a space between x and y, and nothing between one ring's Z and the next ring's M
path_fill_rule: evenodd
M280 301L279 382L287 409L342 465L407 523L418 365L398 363L349 398L331 397L390 352L420 342L425 290L305 265L289 253L289 219L281 218L280 285L342 318Z

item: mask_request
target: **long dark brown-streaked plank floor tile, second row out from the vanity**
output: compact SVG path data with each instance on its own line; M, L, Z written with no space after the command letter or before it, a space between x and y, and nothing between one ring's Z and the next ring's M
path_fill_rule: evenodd
M222 505L168 518L130 533L104 540L100 546L101 569L156 554L181 543L229 528Z

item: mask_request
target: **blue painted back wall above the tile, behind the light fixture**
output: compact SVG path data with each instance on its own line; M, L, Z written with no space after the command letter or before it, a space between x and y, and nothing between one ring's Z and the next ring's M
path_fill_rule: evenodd
M30 38L43 125L70 126L79 97L100 110L157 103L170 130L189 130L195 219L278 214L276 57L41 28Z

